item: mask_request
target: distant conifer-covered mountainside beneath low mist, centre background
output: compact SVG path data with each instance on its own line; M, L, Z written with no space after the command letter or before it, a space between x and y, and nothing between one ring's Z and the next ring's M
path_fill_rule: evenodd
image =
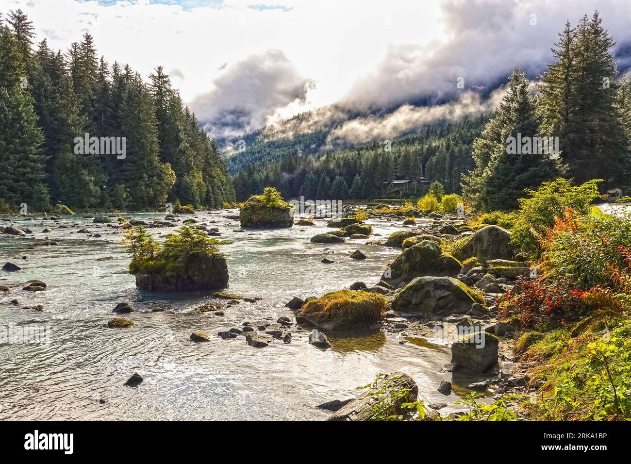
M266 141L259 141L259 133L251 138L253 143L244 138L246 150L232 155L227 164L236 173L233 180L240 201L264 186L274 186L288 197L375 198L387 193L384 182L419 177L442 182L448 193L460 193L462 175L475 166L473 140L487 122L488 117L480 115L456 124L437 123L388 142L338 151L322 150L329 131Z

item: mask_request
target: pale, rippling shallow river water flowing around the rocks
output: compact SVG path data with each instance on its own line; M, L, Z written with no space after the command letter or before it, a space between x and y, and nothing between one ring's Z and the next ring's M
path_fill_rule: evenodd
M329 336L333 347L320 350L309 345L304 332L293 333L291 343L274 340L266 348L247 345L243 336L216 336L244 321L291 318L284 304L295 295L321 295L357 280L374 285L382 266L397 254L396 249L367 245L365 240L312 244L312 235L327 230L322 220L316 220L315 227L233 232L239 223L225 216L235 214L222 210L179 217L195 217L218 227L220 239L233 239L233 244L221 247L228 254L229 291L262 298L235 306L221 301L225 316L191 312L204 302L216 302L207 294L136 289L127 273L129 258L119 244L121 234L92 223L91 217L15 218L17 225L32 229L33 236L0 236L2 264L10 261L22 268L13 273L0 270L0 285L39 279L48 287L45 292L27 292L19 285L11 287L11 294L0 295L0 328L49 327L49 342L0 344L0 419L326 419L329 413L316 405L356 396L355 387L370 383L379 372L393 371L410 374L428 402L459 399L436 391L441 380L451 380L449 372L441 372L451 350L432 341L401 345L395 334L382 332ZM131 215L142 220L163 216ZM397 230L393 223L369 223L377 234ZM68 228L60 228L63 225ZM51 232L42 233L46 228ZM80 229L102 237L78 234ZM173 229L149 230L160 236ZM58 245L35 246L45 235ZM368 259L350 259L355 249ZM96 261L105 256L113 259ZM325 256L335 262L321 263ZM13 299L19 306L9 303ZM136 309L127 315L135 325L107 328L112 309L121 301ZM44 306L44 311L22 309L35 305ZM166 311L151 312L156 308ZM211 342L191 342L192 331L212 335ZM134 372L144 382L137 388L123 386ZM441 413L451 410L455 407Z

